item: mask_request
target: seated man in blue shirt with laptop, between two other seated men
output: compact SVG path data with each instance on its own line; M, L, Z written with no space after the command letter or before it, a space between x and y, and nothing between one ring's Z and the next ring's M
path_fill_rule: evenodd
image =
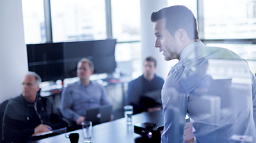
M77 77L80 80L68 85L61 95L63 116L78 125L86 119L86 110L110 104L106 89L89 79L93 69L90 59L81 59L77 64Z

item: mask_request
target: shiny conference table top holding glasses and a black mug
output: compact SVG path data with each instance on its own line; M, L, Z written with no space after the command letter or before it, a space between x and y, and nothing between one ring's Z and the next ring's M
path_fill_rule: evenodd
M108 123L97 124L92 128L92 143L132 143L141 135L134 133L134 124L145 122L156 123L157 126L163 126L163 110L156 112L145 112L132 116L132 124L127 125L125 118L109 121ZM70 142L65 137L69 133L79 133L79 143L84 142L83 130L75 130L72 132L62 133L53 137L48 137L41 140L33 140L33 143L51 143L51 142Z

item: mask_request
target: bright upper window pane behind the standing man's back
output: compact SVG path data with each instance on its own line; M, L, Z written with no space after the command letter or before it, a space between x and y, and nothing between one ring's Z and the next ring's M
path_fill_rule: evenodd
M204 1L204 38L256 38L255 11L253 0Z

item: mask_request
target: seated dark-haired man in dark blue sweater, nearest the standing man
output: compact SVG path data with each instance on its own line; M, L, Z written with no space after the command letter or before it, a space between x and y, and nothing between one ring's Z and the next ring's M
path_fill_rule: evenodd
M127 104L133 106L134 114L161 110L161 89L164 80L156 75L156 59L147 57L144 73L129 83Z

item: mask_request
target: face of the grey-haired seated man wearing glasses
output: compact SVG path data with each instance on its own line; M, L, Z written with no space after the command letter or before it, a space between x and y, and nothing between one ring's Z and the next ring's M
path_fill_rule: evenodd
M35 97L36 92L39 90L39 86L36 85L36 78L33 75L27 75L24 77L21 90L24 98L28 99Z

